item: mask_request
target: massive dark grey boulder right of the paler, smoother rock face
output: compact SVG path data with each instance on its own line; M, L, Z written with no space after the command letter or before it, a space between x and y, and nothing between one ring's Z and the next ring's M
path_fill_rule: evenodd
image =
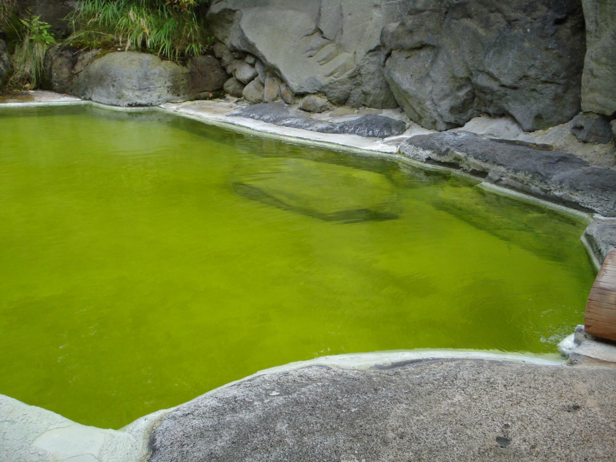
M484 112L535 131L580 111L579 0L410 0L408 9L381 44L387 81L411 120L442 131Z

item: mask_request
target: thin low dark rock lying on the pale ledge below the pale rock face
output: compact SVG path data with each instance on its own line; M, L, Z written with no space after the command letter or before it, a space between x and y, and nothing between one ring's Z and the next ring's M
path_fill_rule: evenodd
M391 117L365 115L352 121L333 123L307 118L306 113L291 111L282 103L262 103L242 108L229 116L247 117L290 128L302 128L322 133L352 134L386 138L400 135L406 124Z

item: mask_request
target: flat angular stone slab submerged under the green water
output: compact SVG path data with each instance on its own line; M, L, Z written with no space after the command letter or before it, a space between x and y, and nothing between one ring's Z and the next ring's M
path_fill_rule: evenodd
M294 158L245 161L233 174L238 194L325 221L398 217L394 185L380 173Z

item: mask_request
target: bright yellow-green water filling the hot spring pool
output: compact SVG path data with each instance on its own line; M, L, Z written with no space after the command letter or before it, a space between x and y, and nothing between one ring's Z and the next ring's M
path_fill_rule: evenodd
M584 224L448 172L92 106L5 108L0 142L0 392L81 423L583 319Z

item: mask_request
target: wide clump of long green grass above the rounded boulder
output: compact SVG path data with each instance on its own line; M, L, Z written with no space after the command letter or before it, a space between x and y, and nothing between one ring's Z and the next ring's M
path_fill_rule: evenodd
M81 0L68 15L71 43L83 47L118 44L166 59L200 55L211 44L196 9L199 0Z

